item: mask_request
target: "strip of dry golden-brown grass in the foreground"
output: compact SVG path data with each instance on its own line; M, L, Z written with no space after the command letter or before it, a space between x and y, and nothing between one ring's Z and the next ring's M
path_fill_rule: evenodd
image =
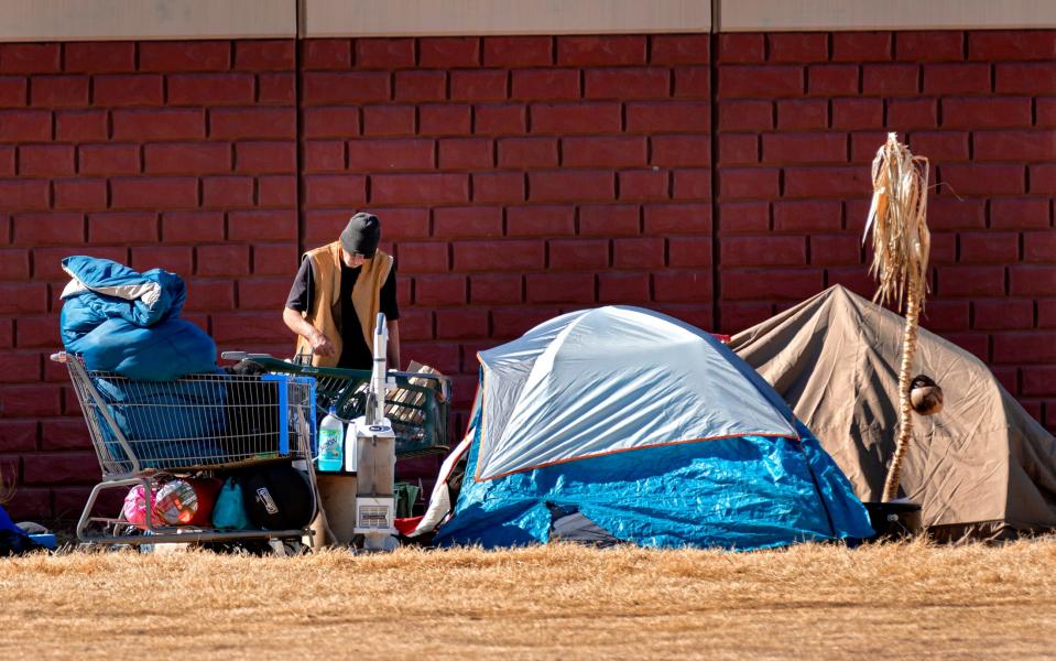
M32 657L1046 657L1056 539L1004 548L0 561L0 631Z

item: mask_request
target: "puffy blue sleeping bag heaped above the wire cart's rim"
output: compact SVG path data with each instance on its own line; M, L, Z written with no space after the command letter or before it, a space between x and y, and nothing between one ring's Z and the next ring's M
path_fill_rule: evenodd
M67 257L63 270L73 278L62 294L63 345L89 370L137 381L216 371L213 338L178 318L187 297L179 275L85 256Z

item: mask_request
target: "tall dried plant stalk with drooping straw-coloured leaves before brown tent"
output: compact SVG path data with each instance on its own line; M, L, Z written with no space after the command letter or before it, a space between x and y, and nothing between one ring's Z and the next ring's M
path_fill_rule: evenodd
M899 496L902 465L913 436L910 375L927 296L927 261L932 247L927 229L927 159L914 156L895 133L888 133L888 141L873 160L873 197L862 236L864 243L872 231L873 257L869 272L878 280L873 301L894 302L897 310L904 307L906 316L899 369L899 435L884 480L885 502Z

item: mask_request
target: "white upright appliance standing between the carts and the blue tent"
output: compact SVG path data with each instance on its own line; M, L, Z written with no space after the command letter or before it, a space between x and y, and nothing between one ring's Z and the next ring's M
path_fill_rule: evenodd
M392 551L400 545L393 527L396 437L385 418L385 394L395 388L395 380L388 376L388 348L389 328L385 315L379 313L366 414L349 422L345 436L345 470L357 474L353 533L363 535L366 551Z

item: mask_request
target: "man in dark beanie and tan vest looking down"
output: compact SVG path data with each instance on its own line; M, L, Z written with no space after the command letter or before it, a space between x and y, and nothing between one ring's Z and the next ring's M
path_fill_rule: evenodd
M381 223L372 214L351 217L337 241L304 253L282 318L297 334L297 355L316 367L371 369L378 313L389 327L387 360L399 370L400 308L396 267L378 249Z

